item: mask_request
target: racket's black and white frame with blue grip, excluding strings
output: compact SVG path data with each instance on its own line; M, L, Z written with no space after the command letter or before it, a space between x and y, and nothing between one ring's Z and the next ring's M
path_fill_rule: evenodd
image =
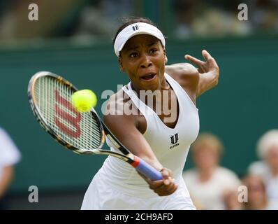
M31 110L33 111L34 116L36 117L36 120L38 121L38 123L41 124L41 127L43 127L43 129L48 134L50 134L53 139L55 139L59 144L63 145L65 148L73 151L74 153L112 155L116 158L119 158L120 160L129 162L129 164L131 166L135 167L138 170L138 172L149 176L150 179L154 179L154 180L162 179L161 173L159 171L157 171L156 169L151 167L144 160L138 158L136 155L133 155L132 153L130 153L129 150L124 145L122 145L122 143L112 134L112 132L110 132L108 127L98 117L98 114L96 113L94 108L91 109L90 113L92 113L92 116L94 116L94 118L96 118L96 122L98 124L98 127L100 128L101 135L102 135L101 136L101 144L98 146L98 148L92 148L90 150L76 148L75 146L68 144L68 142L64 141L64 139L61 139L61 137L59 137L59 135L54 130L52 130L52 128L49 127L49 125L47 125L45 118L43 118L43 116L40 113L40 110L38 109L38 106L36 103L36 97L34 97L35 96L34 88L35 88L36 80L38 80L38 78L41 78L43 76L44 77L50 76L51 78L58 80L59 82L63 83L64 85L67 85L69 88L71 88L71 90L73 90L73 92L78 91L78 89L73 84L68 82L68 80L62 78L61 76L57 76L56 74L54 74L50 71L39 71L39 72L35 73L34 76L31 78L31 80L29 81L28 97L29 97L29 104L31 105ZM106 135L106 137L108 137L108 139L110 139L111 143L119 151L121 151L124 154L117 153L115 151L108 151L108 150L101 149L101 147L105 143L105 135Z

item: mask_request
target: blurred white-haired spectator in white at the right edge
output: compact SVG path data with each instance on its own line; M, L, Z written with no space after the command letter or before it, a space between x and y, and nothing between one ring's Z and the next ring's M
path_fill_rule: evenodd
M263 134L258 140L257 153L261 161L251 163L248 171L263 178L268 200L278 205L278 130Z

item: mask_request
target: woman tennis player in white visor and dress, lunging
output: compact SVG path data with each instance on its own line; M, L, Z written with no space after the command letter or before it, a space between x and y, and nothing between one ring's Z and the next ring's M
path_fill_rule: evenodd
M130 83L110 97L103 118L115 137L163 179L147 179L109 156L81 209L196 209L182 170L199 131L196 98L217 85L219 68L206 50L204 62L186 55L198 69L187 63L166 66L165 47L163 34L150 20L133 18L119 27L114 50Z

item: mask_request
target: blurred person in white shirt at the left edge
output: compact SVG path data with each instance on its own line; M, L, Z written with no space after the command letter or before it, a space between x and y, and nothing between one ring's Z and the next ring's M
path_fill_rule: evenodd
M20 151L8 134L0 128L0 210L7 209L4 196L13 181L13 166L20 160Z

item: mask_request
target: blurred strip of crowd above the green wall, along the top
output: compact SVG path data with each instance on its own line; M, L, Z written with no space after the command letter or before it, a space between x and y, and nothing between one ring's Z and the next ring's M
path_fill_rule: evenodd
M141 0L0 0L0 40L69 36L78 39L111 38L126 16L151 17L156 22L170 21L167 36L249 35L278 31L278 0L161 0L149 3ZM168 13L159 11L168 6ZM30 22L28 6L37 3L39 22ZM247 21L240 21L238 6L248 6ZM157 5L157 6L156 6ZM147 10L146 10L147 9ZM165 17L168 18L165 18Z

